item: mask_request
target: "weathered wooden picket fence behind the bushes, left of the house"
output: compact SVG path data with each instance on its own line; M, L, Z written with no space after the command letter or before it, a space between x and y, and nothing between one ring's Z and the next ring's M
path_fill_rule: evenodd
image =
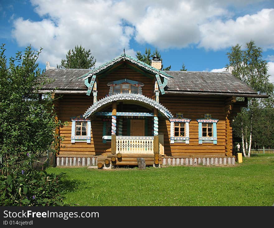
M37 156L35 158L33 158L30 161L30 165L32 166L33 169L35 170L43 170L46 167L49 166L55 166L55 151L49 149L48 151L46 151L43 155L41 156ZM8 155L4 154L2 157L0 157L0 167L2 166L2 162L4 161L4 159L8 159ZM14 170L19 168L20 166L23 166L24 162L26 161L26 159L18 159L17 161L15 161L11 166L10 169Z

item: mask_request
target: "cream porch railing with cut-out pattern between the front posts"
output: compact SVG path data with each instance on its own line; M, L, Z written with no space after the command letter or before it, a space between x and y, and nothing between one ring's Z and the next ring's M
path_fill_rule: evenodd
M153 136L116 136L116 153L153 154Z

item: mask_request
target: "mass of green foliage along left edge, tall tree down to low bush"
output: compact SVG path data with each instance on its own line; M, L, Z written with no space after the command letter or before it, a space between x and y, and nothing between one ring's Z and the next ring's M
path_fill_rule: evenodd
M62 205L61 188L56 187L57 177L45 171L35 171L30 165L30 161L36 160L36 155L47 151L59 137L54 133L60 124L54 119L54 100L50 94L43 99L38 94L41 87L49 82L41 78L36 62L41 49L35 52L29 46L24 53L17 52L9 62L5 50L2 44L0 205Z

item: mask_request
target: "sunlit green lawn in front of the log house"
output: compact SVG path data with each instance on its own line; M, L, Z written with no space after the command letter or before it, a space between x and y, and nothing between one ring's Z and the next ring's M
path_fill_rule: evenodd
M251 155L235 166L161 168L51 167L65 172L66 203L80 206L272 206L274 155Z

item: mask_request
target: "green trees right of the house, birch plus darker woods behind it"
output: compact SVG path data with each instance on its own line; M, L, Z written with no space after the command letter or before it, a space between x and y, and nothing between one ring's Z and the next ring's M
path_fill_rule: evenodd
M262 48L254 41L246 43L245 50L237 44L227 53L228 67L232 74L252 87L258 94L268 94L269 99L248 98L248 107L242 108L233 122L234 136L242 137L242 146L250 155L251 146L273 146L270 136L274 135L273 124L273 84L269 82L267 62L262 59ZM239 98L241 99L241 98ZM264 119L268 116L267 121ZM262 130L264 129L264 130ZM273 137L272 137L273 138ZM244 142L245 141L245 142ZM247 143L248 142L248 143ZM245 151L244 155L245 155Z

